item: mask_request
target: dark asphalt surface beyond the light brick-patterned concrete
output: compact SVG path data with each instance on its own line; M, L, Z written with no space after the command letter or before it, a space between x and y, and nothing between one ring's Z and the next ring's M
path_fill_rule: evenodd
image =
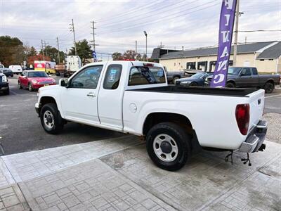
M0 141L6 155L124 135L73 122L67 123L61 134L46 134L34 110L37 92L18 89L16 76L9 82L10 96L0 96ZM281 89L266 94L265 112L281 113Z

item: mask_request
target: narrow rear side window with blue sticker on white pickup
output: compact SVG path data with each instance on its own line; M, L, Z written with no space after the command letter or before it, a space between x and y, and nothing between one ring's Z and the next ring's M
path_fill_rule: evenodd
M122 72L122 65L109 65L103 82L103 89L117 89Z

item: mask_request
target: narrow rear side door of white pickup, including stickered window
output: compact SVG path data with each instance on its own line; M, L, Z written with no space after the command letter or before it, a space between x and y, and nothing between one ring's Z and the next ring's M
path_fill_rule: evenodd
M103 84L100 85L98 94L98 115L100 124L123 129L122 101L124 94L124 82L122 81L123 65L110 63L107 65L103 77ZM125 74L125 72L123 73Z

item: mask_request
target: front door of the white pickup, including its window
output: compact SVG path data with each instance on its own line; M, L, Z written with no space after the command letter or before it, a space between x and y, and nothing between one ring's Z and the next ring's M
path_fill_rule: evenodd
M100 124L98 87L102 70L103 65L88 66L70 79L60 98L66 119Z

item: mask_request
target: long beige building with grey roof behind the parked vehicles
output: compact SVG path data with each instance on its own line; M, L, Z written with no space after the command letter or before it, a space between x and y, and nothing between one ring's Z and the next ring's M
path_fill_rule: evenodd
M164 51L166 53L163 54ZM159 63L171 71L183 69L214 71L217 52L217 47L191 49L187 51L161 49ZM233 47L230 55L230 66L232 65ZM238 45L236 66L254 66L259 72L281 72L281 41L265 41Z

